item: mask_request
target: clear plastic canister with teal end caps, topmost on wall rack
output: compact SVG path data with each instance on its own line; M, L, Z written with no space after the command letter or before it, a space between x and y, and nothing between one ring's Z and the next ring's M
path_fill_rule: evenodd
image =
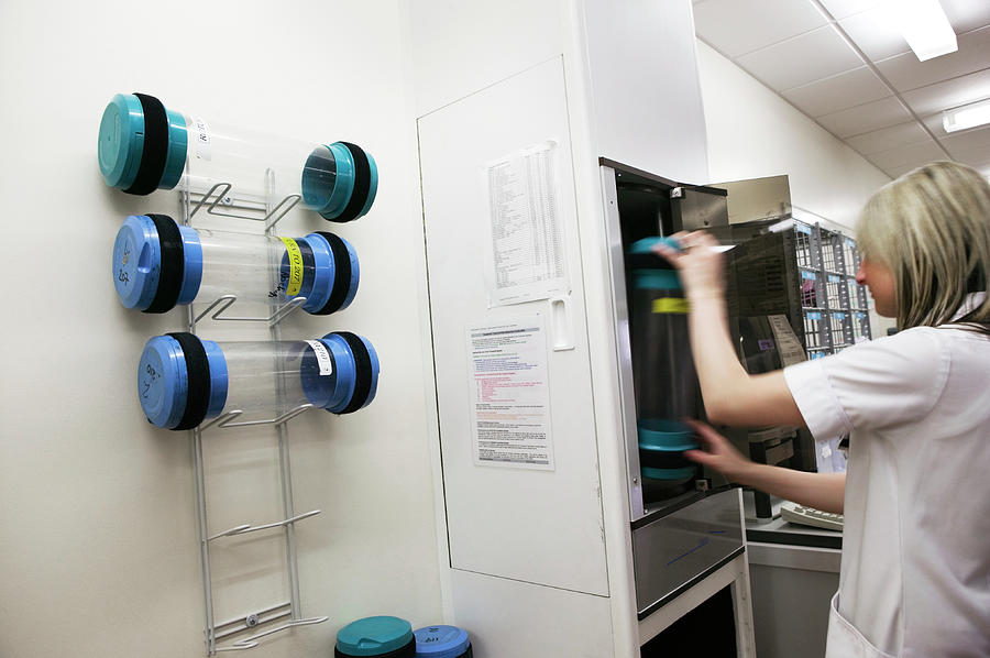
M378 169L356 144L300 142L224 127L167 109L144 94L118 94L103 111L100 172L110 187L146 195L179 183L206 194L230 183L238 198L264 202L299 195L324 219L365 215L375 200Z

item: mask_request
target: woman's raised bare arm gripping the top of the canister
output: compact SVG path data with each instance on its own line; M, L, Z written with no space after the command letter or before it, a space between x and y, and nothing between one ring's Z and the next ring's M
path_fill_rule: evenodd
M734 426L804 427L783 371L750 375L739 363L726 318L724 256L711 249L715 240L704 232L675 238L682 251L656 249L678 270L691 304L691 351L708 419Z

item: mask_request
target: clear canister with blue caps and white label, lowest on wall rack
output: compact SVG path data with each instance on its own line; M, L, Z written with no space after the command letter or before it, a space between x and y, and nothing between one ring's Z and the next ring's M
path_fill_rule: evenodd
M144 346L138 398L148 421L167 429L190 429L234 410L276 418L306 404L350 414L374 399L378 370L371 342L346 331L270 342L167 333Z

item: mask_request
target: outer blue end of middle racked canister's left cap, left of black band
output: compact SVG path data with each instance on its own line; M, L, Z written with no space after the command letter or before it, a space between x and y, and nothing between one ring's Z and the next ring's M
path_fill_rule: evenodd
M151 218L132 215L124 220L113 242L110 266L117 296L125 308L151 306L162 271L158 232Z

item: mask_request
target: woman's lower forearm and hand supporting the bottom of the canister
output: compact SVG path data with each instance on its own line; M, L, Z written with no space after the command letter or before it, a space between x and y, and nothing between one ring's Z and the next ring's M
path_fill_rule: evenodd
M684 452L688 459L715 469L733 482L823 512L843 513L845 473L805 473L758 464L743 457L725 437L704 423L690 423L704 450Z

